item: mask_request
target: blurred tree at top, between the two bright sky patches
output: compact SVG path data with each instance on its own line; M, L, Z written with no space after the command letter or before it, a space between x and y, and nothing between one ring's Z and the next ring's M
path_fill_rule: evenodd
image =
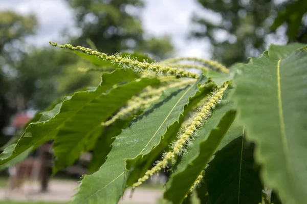
M74 43L85 44L90 38L102 52L112 54L133 49L143 39L140 19L129 13L139 9L139 0L67 0L76 14L81 36Z

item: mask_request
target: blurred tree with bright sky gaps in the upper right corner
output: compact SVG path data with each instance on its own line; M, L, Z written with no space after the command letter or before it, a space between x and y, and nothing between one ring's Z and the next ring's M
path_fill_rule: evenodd
M302 24L303 14L307 11L306 2L199 0L206 13L212 15L194 15L196 27L192 36L209 39L213 58L226 65L246 61L247 57L257 56L265 50L272 40L287 41L289 37L291 41L307 42L305 37L297 35L299 29L300 35L306 34L307 25ZM288 28L286 35L276 31L280 26Z

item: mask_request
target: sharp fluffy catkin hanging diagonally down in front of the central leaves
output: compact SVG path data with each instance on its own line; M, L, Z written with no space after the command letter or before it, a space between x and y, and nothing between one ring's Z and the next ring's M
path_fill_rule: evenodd
M179 135L178 140L172 146L172 150L165 152L163 154L162 161L158 161L155 167L147 170L145 175L139 178L138 181L133 185L133 188L140 186L149 178L149 176L152 176L153 174L159 172L161 169L165 168L168 164L168 161L173 161L176 155L182 154L184 145L190 140L196 128L198 128L204 120L210 117L211 109L213 109L216 103L222 99L227 86L228 84L225 83L220 88L218 88L211 97L209 97L200 111L192 118L191 122L189 125L187 125L183 133Z

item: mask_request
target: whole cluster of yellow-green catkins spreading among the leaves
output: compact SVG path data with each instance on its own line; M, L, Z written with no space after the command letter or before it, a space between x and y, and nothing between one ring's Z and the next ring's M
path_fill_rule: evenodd
M57 43L51 43L52 46L58 46ZM89 48L84 48L81 46L73 47L71 44L59 45L60 48L67 48L70 50L79 50L83 53L89 55L95 55L100 59L112 61L113 64L117 64L122 69L131 69L135 72L142 72L144 76L150 75L151 72L157 73L159 75L175 76L176 78L161 77L160 81L164 81L163 86L159 88L147 87L144 92L131 98L125 107L120 109L116 115L114 115L108 121L101 123L103 126L108 126L113 124L117 119L125 118L126 116L131 116L140 109L144 109L150 106L154 101L157 101L164 90L173 87L182 87L188 84L194 83L195 79L199 77L198 74L187 71L188 69L198 69L203 73L207 73L210 70L219 71L222 73L228 73L228 69L212 60L198 59L198 58L172 58L164 60L160 63L149 63L147 61L140 62L135 58L129 56L122 57L120 54L107 55L98 51L94 51ZM193 61L196 64L182 63L184 61ZM143 76L143 77L144 77ZM180 79L177 79L180 78ZM192 80L183 79L191 78ZM171 80L174 79L174 80ZM176 81L175 81L176 80ZM215 105L220 101L224 95L224 92L228 84L224 83L221 87L218 87L205 101L197 108L195 114L189 119L189 122L185 125L183 130L179 133L176 141L173 141L171 148L168 152L164 152L161 161L157 161L156 165L150 170L147 170L145 175L138 179L138 181L133 185L133 188L140 186L144 183L149 176L158 173L160 170L167 167L169 162L175 162L178 155L183 154L186 146L192 142L193 137L195 137L196 130L203 124L205 120L210 118L211 112ZM194 185L199 185L203 179L205 171L202 171L198 178L195 180ZM192 191L194 186L190 188Z

